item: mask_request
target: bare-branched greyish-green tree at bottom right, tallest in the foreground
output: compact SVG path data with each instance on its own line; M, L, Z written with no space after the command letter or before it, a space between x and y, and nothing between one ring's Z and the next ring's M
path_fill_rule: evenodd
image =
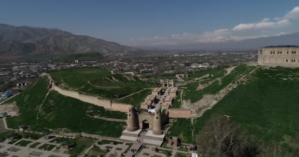
M212 116L197 135L197 151L208 157L250 157L257 146L245 132L223 115Z

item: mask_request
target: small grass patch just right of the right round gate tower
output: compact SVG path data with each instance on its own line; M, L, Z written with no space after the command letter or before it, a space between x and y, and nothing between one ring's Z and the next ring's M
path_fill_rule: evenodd
M176 121L168 130L168 134L166 136L178 136L182 143L192 143L192 128L191 119L176 118Z

